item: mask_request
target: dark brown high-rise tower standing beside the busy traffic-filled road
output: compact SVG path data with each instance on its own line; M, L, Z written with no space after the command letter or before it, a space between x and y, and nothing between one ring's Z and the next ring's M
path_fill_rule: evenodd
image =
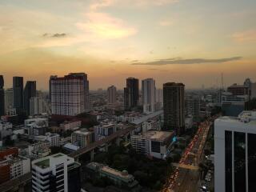
M185 127L185 85L167 82L163 84L164 129L182 134Z

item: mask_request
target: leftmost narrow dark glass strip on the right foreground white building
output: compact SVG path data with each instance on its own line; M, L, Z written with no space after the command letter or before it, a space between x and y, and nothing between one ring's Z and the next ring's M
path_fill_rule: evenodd
M232 192L232 132L225 131L225 179L226 192Z

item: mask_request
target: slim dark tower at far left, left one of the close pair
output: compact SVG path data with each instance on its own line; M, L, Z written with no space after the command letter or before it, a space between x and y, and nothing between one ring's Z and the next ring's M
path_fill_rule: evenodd
M17 114L23 113L23 77L13 78L14 108Z

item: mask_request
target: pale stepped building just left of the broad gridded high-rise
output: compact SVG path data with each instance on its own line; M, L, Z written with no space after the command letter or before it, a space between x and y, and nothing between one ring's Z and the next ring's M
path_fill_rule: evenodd
M50 114L50 107L44 98L30 98L30 115Z

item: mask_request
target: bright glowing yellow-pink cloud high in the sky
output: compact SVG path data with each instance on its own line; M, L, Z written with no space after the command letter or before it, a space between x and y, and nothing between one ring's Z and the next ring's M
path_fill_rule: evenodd
M122 19L110 14L90 12L86 14L86 22L77 22L79 30L93 34L97 38L126 38L137 33L132 26L127 26Z

